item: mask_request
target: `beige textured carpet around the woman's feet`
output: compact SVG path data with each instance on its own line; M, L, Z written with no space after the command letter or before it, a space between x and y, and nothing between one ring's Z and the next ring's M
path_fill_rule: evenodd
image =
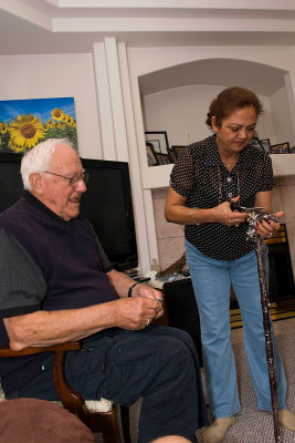
M289 410L295 412L295 334L278 336L277 344L288 385L287 405ZM262 412L256 409L244 346L234 344L233 349L242 411L238 415L236 423L229 430L223 443L272 443L275 441L273 416L272 413ZM203 430L197 432L199 443L202 443L202 432ZM293 432L281 429L281 436L282 443L295 443L295 433Z

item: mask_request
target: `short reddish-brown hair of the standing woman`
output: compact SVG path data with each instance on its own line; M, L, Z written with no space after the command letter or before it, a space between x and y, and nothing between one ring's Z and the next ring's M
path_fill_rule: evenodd
M245 87L232 86L221 91L211 102L207 114L206 124L212 128L212 116L217 119L217 126L220 127L222 120L242 107L254 106L257 115L263 114L262 103L254 92Z

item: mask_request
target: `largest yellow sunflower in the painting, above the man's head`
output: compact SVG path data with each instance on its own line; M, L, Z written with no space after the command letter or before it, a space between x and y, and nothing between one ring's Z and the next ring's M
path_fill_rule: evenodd
M11 141L17 146L33 147L44 135L44 128L39 117L32 114L19 115L9 125Z

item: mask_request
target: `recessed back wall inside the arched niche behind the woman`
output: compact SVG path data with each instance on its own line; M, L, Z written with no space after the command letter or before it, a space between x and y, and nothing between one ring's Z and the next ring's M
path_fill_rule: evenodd
M212 134L204 123L211 101L223 86L196 84L180 86L143 99L147 131L167 131L169 145L186 145ZM274 140L274 125L270 99L259 95L264 114L260 115L256 131L260 138ZM277 107L286 114L286 101ZM287 136L288 134L286 134ZM285 140L288 141L288 140Z

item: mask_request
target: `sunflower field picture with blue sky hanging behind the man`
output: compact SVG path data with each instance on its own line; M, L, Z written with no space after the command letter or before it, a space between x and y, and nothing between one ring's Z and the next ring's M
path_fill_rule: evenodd
M77 151L73 97L0 101L0 154L25 153L48 138L69 138Z

